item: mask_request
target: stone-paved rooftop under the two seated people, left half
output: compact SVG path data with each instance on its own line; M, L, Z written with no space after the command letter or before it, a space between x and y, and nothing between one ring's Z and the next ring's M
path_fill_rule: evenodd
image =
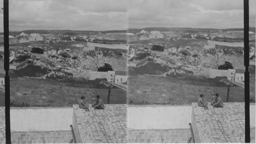
M127 142L126 104L106 104L105 109L90 111L73 105L73 127L79 143Z

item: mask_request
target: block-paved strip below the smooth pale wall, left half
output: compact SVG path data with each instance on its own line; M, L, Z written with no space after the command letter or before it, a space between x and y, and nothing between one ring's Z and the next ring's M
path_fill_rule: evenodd
M72 131L12 132L12 143L70 143Z

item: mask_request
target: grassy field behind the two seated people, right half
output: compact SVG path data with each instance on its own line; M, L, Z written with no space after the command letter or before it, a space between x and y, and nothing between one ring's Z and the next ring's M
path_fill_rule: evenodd
M197 102L200 94L211 102L215 100L216 93L226 102L227 96L227 87L219 87L219 83L211 79L137 75L129 78L129 85L129 104L191 104ZM229 102L244 102L244 89L230 87Z

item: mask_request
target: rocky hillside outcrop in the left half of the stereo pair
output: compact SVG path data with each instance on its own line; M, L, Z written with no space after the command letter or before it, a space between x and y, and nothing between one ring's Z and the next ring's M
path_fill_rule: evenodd
M97 71L99 66L98 57L114 56L123 57L120 52L115 51L83 51L77 49L58 49L44 48L44 54L19 52L15 55L15 60L18 57L29 57L29 62L34 66L47 69L50 75L68 75L73 77L84 77L87 71ZM30 51L30 50L27 50ZM19 58L20 59L20 58Z

